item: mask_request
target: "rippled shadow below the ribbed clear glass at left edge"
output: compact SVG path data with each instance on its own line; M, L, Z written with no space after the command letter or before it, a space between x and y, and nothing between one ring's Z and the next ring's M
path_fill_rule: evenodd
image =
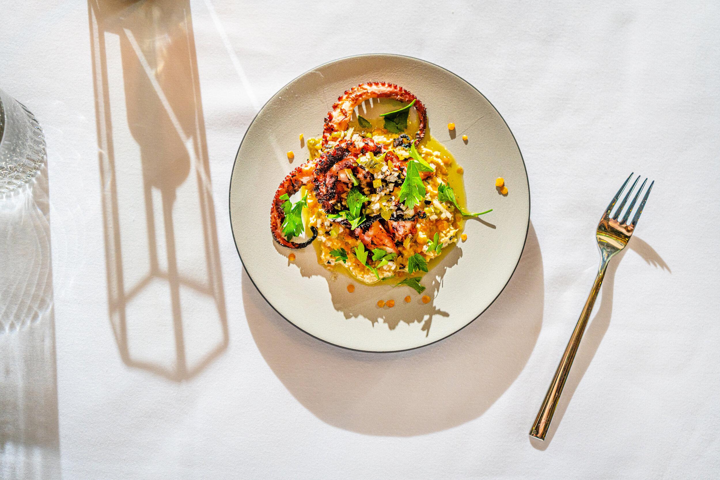
M48 168L0 199L0 478L59 479Z

